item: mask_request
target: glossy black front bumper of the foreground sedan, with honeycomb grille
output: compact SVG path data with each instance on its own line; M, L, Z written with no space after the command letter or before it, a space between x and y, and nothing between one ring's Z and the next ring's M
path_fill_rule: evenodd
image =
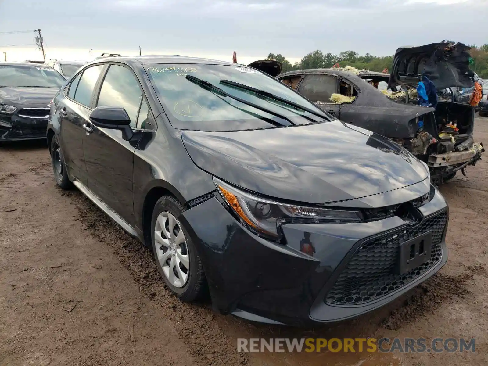
M216 310L249 320L306 325L374 310L446 263L446 201L435 191L418 210L422 218L413 226L397 216L368 223L287 224L286 245L249 232L216 197L188 209L181 220L192 228ZM399 245L425 231L433 232L432 260L395 275ZM305 232L313 253L301 251Z

